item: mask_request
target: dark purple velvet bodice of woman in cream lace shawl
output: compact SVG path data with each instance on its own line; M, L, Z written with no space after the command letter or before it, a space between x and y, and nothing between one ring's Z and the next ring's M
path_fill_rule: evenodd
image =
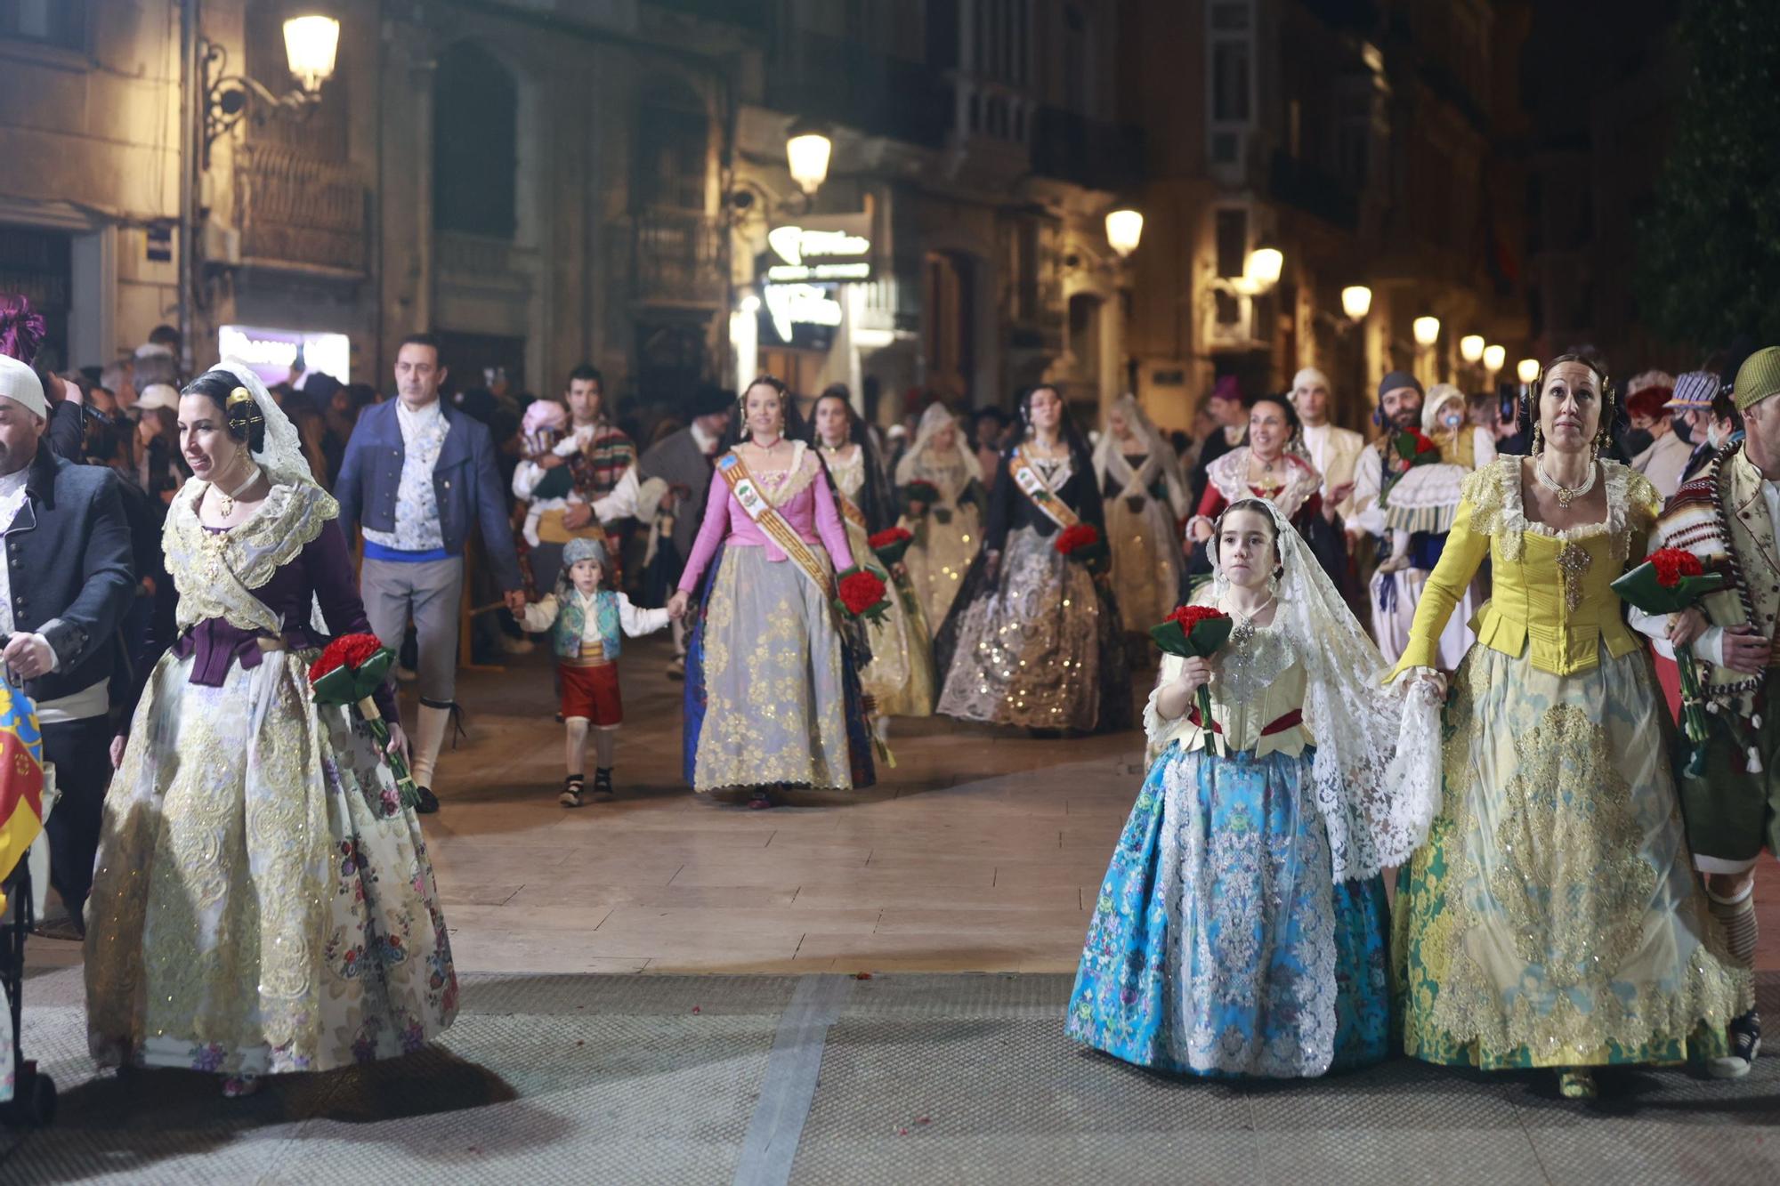
M224 532L228 527L205 527L205 531ZM365 618L365 604L358 597L352 556L345 548L345 536L340 534L338 524L324 525L315 540L306 543L288 563L279 565L272 579L253 595L285 623L285 643L290 650L328 643L329 636L317 634L310 625L310 598L320 604L322 620L333 636L372 632L370 621ZM192 657L192 684L221 687L230 664L239 662L251 671L265 661L258 639L256 630L242 630L222 618L206 618L180 636L173 645L173 654L180 659ZM383 719L400 721L395 689L388 680L377 689L376 700Z

